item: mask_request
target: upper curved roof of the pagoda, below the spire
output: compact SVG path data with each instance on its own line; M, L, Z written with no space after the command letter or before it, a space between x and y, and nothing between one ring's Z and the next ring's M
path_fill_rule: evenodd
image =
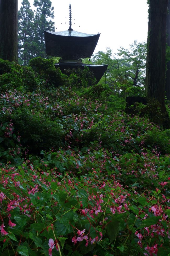
M45 31L46 54L62 59L90 58L100 34L86 34L74 30Z

